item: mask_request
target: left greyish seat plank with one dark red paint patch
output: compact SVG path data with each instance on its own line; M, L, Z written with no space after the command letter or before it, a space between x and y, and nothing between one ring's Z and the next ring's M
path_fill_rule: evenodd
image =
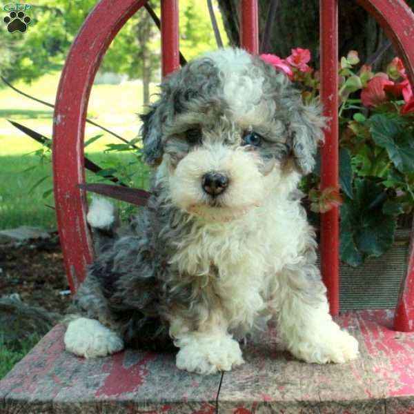
M215 413L221 375L179 371L175 353L83 359L64 351L64 331L52 329L0 382L2 414Z

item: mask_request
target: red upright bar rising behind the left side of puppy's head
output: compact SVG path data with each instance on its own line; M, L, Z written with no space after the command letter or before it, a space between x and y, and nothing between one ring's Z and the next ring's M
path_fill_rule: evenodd
M163 77L179 68L178 0L161 0L161 57Z

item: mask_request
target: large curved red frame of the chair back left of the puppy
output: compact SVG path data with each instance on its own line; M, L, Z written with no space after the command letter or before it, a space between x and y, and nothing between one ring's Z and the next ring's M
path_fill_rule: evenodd
M103 54L124 23L147 0L101 0L88 15L70 48L57 90L52 162L55 206L66 274L72 293L92 261L86 224L83 136L90 88Z

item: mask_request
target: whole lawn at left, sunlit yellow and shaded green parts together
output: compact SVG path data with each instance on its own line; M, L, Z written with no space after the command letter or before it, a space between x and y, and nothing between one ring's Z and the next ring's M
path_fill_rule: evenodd
M53 103L59 75L59 72L55 72L43 76L30 86L25 83L15 86ZM152 92L155 90L155 85L152 85ZM94 85L88 117L125 139L133 139L139 130L137 112L143 109L141 96L139 81ZM56 228L55 210L48 207L54 205L52 194L43 197L52 188L50 161L41 161L40 157L34 155L33 152L41 149L41 145L7 121L12 119L46 137L52 137L52 108L22 97L10 88L0 89L0 108L0 229L21 225ZM86 139L99 133L102 133L99 128L86 124ZM105 133L86 148L87 155L103 168L116 168L122 177L132 175L128 180L131 185L146 187L148 170L136 162L137 157L125 152L103 154L107 144L120 142ZM102 177L88 175L88 181L102 181ZM125 212L126 206L120 206L121 211Z

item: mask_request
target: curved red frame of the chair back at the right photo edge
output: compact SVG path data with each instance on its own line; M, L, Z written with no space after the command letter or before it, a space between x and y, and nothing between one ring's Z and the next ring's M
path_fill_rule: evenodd
M414 13L403 0L357 0L373 15L393 42L404 61L411 86L414 86ZM414 331L414 231L411 232L409 261L395 310L394 328Z

